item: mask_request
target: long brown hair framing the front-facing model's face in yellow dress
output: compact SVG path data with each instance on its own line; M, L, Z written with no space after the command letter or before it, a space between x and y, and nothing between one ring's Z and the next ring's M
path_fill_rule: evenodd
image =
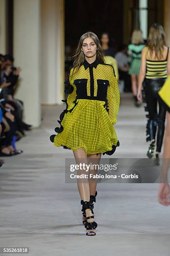
M72 75L73 75L73 73L78 72L80 66L84 62L85 56L84 56L83 51L81 51L81 47L82 47L84 39L88 38L88 37L91 37L94 40L94 43L97 46L96 59L98 59L100 63L105 63L104 57L103 57L103 54L102 54L102 50L101 50L101 44L100 44L99 38L93 32L90 32L90 31L86 32L81 36L81 38L79 40L79 44L78 44L77 49L76 49L76 53L75 53L74 56L72 56L72 59L74 59L74 63L73 63L74 69L73 69Z

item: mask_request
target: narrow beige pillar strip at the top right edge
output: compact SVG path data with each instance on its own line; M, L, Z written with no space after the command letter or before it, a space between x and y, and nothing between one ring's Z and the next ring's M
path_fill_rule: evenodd
M167 46L170 46L170 0L164 0L164 29Z

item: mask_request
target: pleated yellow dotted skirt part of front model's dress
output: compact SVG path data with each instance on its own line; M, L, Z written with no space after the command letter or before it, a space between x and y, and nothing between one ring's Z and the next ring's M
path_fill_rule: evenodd
M113 154L119 141L105 102L89 99L76 102L71 113L62 113L60 131L53 135L54 146L71 150L84 148L86 154Z

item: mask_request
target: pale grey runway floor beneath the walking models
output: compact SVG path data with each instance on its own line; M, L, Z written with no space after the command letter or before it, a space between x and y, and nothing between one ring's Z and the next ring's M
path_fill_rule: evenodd
M77 184L65 183L65 158L73 152L49 140L63 109L43 106L41 127L17 143L24 153L4 158L0 247L29 247L30 256L170 256L170 207L158 203L158 184L99 183L96 236L85 235ZM120 146L112 157L146 157L145 114L131 94L121 94Z

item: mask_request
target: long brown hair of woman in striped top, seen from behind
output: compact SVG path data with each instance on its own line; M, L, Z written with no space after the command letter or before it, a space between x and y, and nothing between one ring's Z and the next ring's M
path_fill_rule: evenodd
M147 39L147 46L150 50L150 56L152 57L155 52L157 59L162 59L165 42L165 32L163 27L159 23L154 23L150 27L149 36Z

